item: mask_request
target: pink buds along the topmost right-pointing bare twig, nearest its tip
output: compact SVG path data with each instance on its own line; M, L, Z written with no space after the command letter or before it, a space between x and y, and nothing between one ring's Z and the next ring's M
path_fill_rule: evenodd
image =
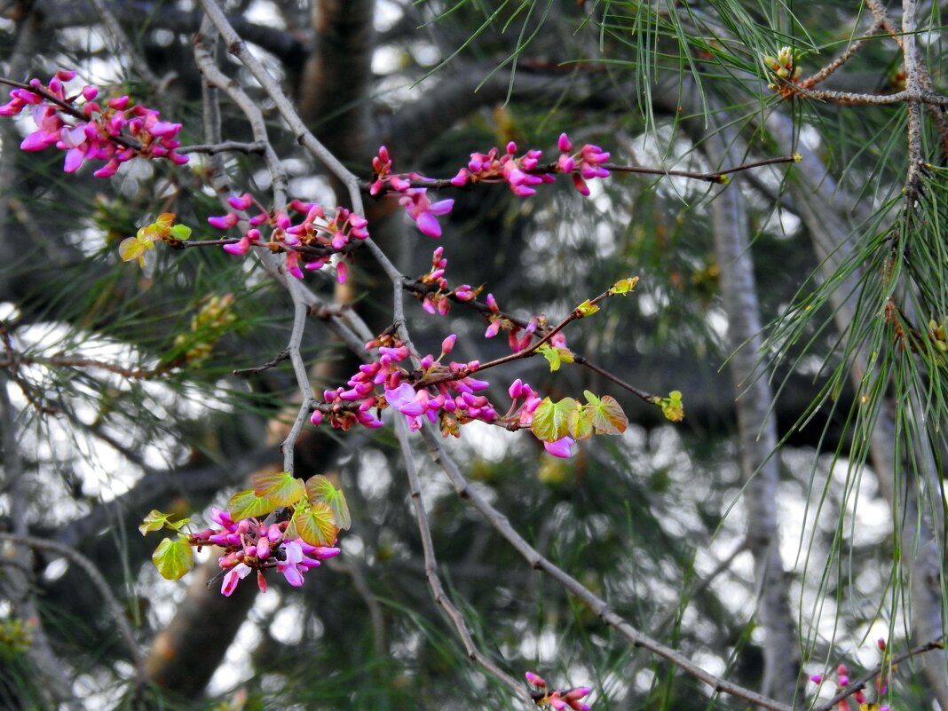
M503 180L515 195L527 197L535 194L536 186L541 183L552 183L555 173L569 173L573 176L576 190L588 195L590 189L586 180L609 175L609 170L603 164L609 160L610 154L598 146L587 143L574 153L570 138L561 134L557 147L560 155L552 166L539 165L539 158L543 155L541 151L529 150L517 156L517 144L513 141L507 144L503 155L498 148L492 148L485 154L472 153L467 167L451 178L451 185L460 188L468 183Z

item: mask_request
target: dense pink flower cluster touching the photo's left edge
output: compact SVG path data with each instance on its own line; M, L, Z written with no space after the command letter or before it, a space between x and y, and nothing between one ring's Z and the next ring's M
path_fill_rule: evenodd
M180 123L159 120L155 109L129 106L127 96L110 99L103 107L95 101L99 96L95 86L83 86L68 96L64 82L75 76L74 71L59 71L48 84L30 80L32 91L15 88L9 92L10 100L0 106L0 116L16 116L28 106L37 127L23 139L22 150L42 151L55 145L65 151L66 173L79 170L86 160L104 160L106 164L93 173L97 177L114 175L119 165L134 157L167 158L175 165L188 162L187 155L175 152L181 145L175 138ZM77 105L80 98L82 103Z

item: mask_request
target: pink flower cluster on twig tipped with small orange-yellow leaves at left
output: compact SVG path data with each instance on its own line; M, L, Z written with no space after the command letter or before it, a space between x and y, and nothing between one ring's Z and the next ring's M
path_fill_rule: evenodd
M337 208L333 217L327 218L325 211L316 203L304 203L293 200L288 207L304 215L299 224L294 225L286 210L270 212L266 210L249 193L239 197L229 197L228 205L234 212L226 215L209 217L211 227L229 229L236 227L240 222L241 212L255 206L259 213L248 218L250 228L246 230L239 242L224 245L225 251L230 254L243 255L252 245L278 248L286 252L286 270L297 279L302 279L303 268L308 270L321 269L334 253L341 252L353 240L364 240L369 236L369 223L345 208ZM269 239L262 242L260 227L267 225L270 228ZM307 250L318 249L319 256L307 255ZM348 268L345 262L336 264L336 273L339 283L345 283L348 277Z

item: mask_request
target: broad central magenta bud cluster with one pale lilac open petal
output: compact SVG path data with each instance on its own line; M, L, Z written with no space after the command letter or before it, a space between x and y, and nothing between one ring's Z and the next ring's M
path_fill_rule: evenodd
M359 366L358 373L349 378L348 388L323 392L323 402L313 411L312 422L319 425L324 419L334 428L348 429L355 424L368 428L382 426L371 410L391 407L405 415L409 427L421 427L422 417L439 423L441 431L458 435L459 425L473 420L491 423L497 419L497 410L483 395L489 383L472 377L480 363L441 361L453 348L457 336L442 341L441 355L424 356L417 370L402 365L410 360L410 352L400 340L384 336L366 344L367 349L378 349L378 359Z

